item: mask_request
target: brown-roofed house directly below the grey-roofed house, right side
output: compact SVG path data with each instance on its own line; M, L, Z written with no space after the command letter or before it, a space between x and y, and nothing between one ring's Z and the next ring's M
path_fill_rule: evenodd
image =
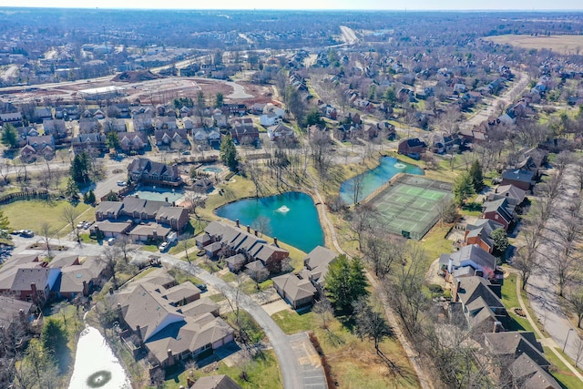
M458 278L452 286L452 310L463 313L470 328L484 333L506 328L508 314L500 299L500 285L482 277Z

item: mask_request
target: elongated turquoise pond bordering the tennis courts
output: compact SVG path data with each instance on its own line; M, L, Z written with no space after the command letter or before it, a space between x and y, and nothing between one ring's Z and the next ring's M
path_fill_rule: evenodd
M341 199L346 204L354 203L354 183L362 179L359 201L366 199L374 190L381 188L398 173L423 175L424 171L410 163L393 157L383 157L381 164L374 169L365 171L352 179L347 179L340 186Z

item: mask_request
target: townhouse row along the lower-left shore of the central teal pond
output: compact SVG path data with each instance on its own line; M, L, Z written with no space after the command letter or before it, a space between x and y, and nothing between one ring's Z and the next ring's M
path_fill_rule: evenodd
M277 245L277 239L269 244L257 235L251 234L249 227L247 230L241 229L239 223L236 227L231 227L221 221L212 221L205 232L210 236L210 242L203 248L219 242L220 250L228 251L231 255L242 253L248 262L261 261L269 271L281 271L281 261L289 256L287 250Z

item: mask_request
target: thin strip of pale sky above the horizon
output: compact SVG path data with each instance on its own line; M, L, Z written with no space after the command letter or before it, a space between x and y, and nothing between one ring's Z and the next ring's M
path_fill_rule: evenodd
M0 0L2 6L147 9L582 10L580 0Z

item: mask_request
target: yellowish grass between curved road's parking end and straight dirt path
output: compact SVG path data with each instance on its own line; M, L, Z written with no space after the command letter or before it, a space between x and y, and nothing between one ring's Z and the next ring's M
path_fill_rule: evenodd
M394 339L384 340L380 349L401 368L403 375L393 375L374 352L373 342L361 340L336 319L330 322L329 330L322 328L320 317L313 312L277 312L272 319L285 333L313 331L338 387L357 388L363 387L363 383L367 388L379 389L419 387L401 344Z

